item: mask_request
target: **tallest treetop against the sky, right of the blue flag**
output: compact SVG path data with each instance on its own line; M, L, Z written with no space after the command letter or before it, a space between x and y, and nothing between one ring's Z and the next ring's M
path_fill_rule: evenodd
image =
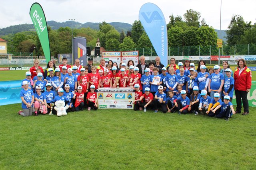
M184 14L184 19L188 26L199 27L200 17L200 12L196 12L192 9L187 10L187 12Z

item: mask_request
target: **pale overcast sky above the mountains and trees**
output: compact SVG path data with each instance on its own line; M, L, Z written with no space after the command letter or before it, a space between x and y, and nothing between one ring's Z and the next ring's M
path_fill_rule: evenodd
M46 20L65 22L76 19L85 22L125 22L138 20L140 7L146 2L156 4L164 13L166 23L169 16L182 16L192 9L201 13L206 24L220 29L220 0L1 0L0 28L31 23L30 6L41 4ZM244 21L256 22L256 0L222 0L221 29L227 29L233 15L241 15Z

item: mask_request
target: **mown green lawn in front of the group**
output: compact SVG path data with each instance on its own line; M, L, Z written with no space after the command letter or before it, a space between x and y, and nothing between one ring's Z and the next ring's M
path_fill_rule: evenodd
M256 108L230 119L98 109L22 117L0 106L1 169L255 169Z

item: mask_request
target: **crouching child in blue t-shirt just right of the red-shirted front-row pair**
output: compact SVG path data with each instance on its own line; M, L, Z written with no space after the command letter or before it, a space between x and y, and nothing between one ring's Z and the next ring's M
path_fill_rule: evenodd
M164 93L163 86L158 86L158 92L156 92L155 98L153 99L153 106L155 113L158 112L158 107L161 107L163 113L167 112L166 94Z

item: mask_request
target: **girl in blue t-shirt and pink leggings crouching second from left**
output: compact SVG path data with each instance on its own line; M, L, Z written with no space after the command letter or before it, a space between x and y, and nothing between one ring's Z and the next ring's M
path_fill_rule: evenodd
M41 86L36 86L35 89L35 115L38 116L38 109L42 114L45 115L48 112L45 94L41 93Z

